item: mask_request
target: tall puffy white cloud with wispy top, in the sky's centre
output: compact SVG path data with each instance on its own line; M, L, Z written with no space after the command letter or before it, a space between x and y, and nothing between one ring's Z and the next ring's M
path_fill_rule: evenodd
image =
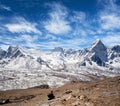
M71 26L66 20L67 9L56 3L53 3L50 7L52 11L49 13L50 19L44 23L45 29L53 34L68 33L71 30Z

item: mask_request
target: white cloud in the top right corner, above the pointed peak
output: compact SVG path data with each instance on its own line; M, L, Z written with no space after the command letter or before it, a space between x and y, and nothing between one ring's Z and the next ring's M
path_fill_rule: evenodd
M107 0L104 9L100 11L100 25L104 30L115 30L120 28L120 7L116 0Z

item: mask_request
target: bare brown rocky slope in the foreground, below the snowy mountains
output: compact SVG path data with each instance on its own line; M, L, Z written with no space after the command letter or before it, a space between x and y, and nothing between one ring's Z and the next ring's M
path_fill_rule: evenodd
M55 99L47 95L54 93ZM120 106L120 76L97 82L70 82L59 88L0 91L3 106Z

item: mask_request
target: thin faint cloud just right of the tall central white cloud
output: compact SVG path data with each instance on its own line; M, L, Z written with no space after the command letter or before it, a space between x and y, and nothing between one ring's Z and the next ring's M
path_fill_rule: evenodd
M87 36L89 34L93 34L91 30L90 23L87 20L87 15L82 11L71 11L70 21L73 24L73 30L71 35L73 36ZM92 20L91 20L92 21Z

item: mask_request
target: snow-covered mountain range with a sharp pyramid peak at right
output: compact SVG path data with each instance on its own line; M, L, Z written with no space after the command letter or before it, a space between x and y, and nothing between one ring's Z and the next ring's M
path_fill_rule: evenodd
M120 75L120 45L96 40L84 50L57 47L51 51L10 46L0 49L0 89L20 89L71 80L93 81Z

